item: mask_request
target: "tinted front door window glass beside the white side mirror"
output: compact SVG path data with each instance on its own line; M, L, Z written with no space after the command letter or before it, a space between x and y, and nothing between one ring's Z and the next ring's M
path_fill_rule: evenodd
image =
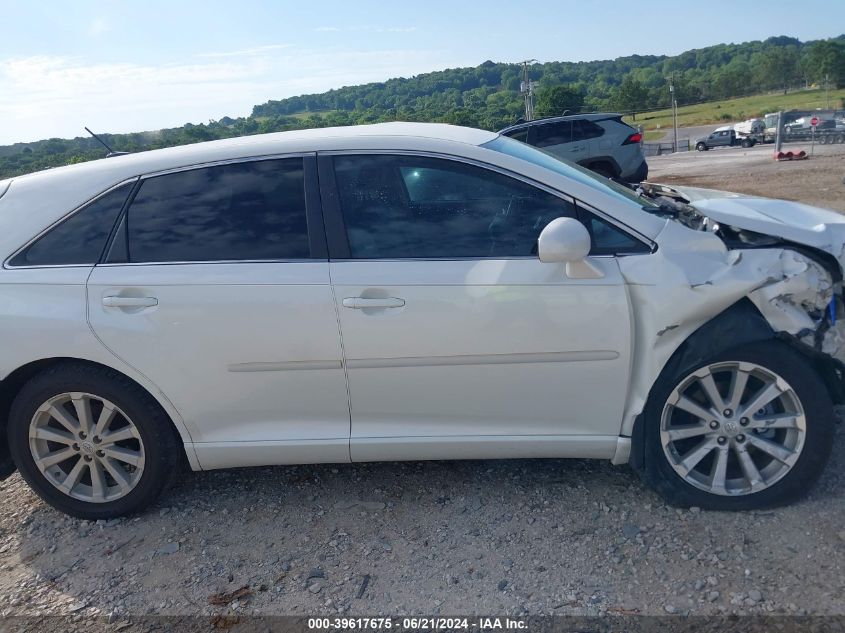
M417 156L334 159L356 259L517 257L575 206L527 183L450 160Z

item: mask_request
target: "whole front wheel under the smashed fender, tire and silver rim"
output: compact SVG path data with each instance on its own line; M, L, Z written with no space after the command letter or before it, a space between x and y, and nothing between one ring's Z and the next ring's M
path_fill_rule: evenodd
M833 419L824 383L803 356L778 341L743 346L655 385L646 479L681 506L783 505L821 475Z

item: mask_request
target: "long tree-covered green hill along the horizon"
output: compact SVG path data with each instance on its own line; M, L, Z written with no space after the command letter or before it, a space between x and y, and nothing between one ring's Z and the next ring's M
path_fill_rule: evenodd
M547 62L530 66L529 76L540 82L539 115L667 107L670 77L681 105L806 88L820 85L825 77L831 88L837 88L845 86L845 35L808 42L770 37L674 56ZM256 105L248 117L188 123L155 133L102 136L115 150L135 152L230 136L395 120L441 121L495 130L522 115L521 79L521 66L486 61L474 68L268 101ZM102 156L102 147L85 137L2 146L0 178Z

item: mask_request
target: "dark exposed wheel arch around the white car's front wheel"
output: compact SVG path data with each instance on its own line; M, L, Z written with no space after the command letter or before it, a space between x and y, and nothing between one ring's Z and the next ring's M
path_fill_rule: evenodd
M694 366L707 358L716 356L731 348L765 340L780 340L787 343L805 358L819 372L834 403L845 402L845 366L814 348L802 343L794 336L776 332L750 299L743 298L701 325L678 346L649 391L652 392L666 376L692 371ZM631 431L631 452L628 463L641 470L645 463L645 412L634 420Z

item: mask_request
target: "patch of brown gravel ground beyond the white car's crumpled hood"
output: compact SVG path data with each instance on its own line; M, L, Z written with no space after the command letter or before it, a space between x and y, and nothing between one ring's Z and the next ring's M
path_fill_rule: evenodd
M810 144L791 143L783 149L809 152ZM800 161L778 162L773 154L774 145L758 145L654 156L648 159L648 179L795 200L845 212L845 145L816 145L814 155Z

